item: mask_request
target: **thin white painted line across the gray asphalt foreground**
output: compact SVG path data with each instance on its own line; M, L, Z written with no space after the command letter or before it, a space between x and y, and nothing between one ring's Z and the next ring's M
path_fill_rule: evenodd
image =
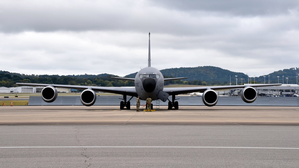
M221 147L221 146L0 146L0 148L237 148L237 149L299 149L278 147Z

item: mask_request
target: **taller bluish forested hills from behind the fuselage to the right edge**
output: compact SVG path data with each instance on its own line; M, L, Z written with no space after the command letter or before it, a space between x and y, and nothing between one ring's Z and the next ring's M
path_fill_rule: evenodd
M241 83L278 83L277 76L280 76L279 83L287 83L286 77L288 77L288 84L296 84L297 78L299 76L299 68L290 68L275 71L270 74L266 74L265 77L259 76L255 77L250 75L250 78L240 72L233 72L226 69L214 67L214 66L198 66L193 68L170 68L161 70L163 76L166 77L188 77L186 81L189 84L197 85L201 82L206 82L207 85L230 85L230 80L232 85L236 85L236 77L238 76L238 85ZM129 74L126 77L135 77L136 73ZM269 77L270 76L270 77ZM282 77L284 76L284 77ZM282 80L284 78L284 81ZM242 79L242 80L241 80Z

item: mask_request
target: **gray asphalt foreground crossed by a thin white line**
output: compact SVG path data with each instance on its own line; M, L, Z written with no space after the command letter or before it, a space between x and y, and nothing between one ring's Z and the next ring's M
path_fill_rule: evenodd
M299 167L298 126L0 126L0 167Z

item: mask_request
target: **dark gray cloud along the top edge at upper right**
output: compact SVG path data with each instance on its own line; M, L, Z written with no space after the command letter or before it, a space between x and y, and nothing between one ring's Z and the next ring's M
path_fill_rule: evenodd
M152 0L152 4L158 4L165 8L174 8L185 11L208 11L213 13L226 13L230 15L280 15L287 14L289 10L298 10L299 2L297 0L273 1L273 0Z

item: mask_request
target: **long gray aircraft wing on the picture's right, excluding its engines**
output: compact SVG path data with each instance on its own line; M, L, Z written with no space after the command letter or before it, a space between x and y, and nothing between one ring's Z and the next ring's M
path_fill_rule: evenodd
M163 91L169 95L185 94L192 92L204 92L207 89L223 90L251 87L265 87L265 86L279 86L282 84L246 84L246 85L229 85L229 86L202 86L202 87L185 87L185 88L164 88Z

